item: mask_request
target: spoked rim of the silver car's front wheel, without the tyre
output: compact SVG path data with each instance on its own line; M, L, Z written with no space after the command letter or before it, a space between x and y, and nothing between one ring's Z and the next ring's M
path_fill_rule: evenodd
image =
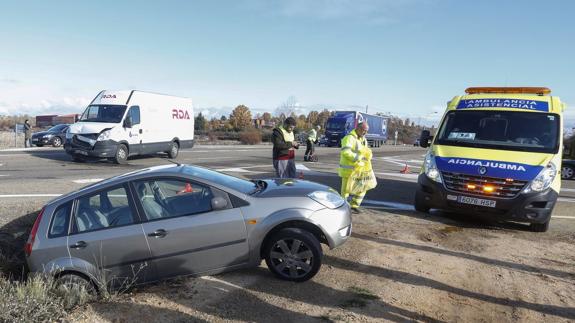
M301 240L282 239L274 244L270 258L278 273L289 278L300 278L313 267L313 252Z

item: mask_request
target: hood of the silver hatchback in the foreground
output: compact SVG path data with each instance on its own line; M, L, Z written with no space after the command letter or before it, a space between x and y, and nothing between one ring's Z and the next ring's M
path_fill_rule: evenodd
M294 197L307 196L315 191L330 191L332 188L304 180L276 178L264 180L266 189L255 194L255 197Z

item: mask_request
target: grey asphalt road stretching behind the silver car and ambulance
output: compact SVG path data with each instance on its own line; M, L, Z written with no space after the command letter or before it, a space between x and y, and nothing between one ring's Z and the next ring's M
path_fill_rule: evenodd
M416 214L412 201L424 153L424 149L410 146L375 148L373 166L379 184L376 189L368 192L364 206L380 210L382 215L385 215L386 210ZM308 163L302 161L303 150L297 152L298 175L339 190L339 149L320 147L317 148L317 155L319 162ZM176 161L248 178L273 176L269 145L197 145L193 149L181 151ZM25 215L30 210L19 210L18 205L41 205L92 182L167 163L170 160L162 155L132 158L127 165L115 165L110 162L75 163L61 148L0 150L0 205L4 206L4 210L10 210L10 217L17 217L20 213ZM399 172L406 165L411 174ZM15 207L11 208L10 205ZM551 221L551 233L575 231L573 207L575 181L563 181ZM464 215L455 215L456 219L460 217L466 220L463 219Z

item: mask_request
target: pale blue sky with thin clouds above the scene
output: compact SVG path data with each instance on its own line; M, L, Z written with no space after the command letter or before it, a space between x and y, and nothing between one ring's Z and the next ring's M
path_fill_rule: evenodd
M131 88L210 114L295 96L302 109L425 119L468 86L505 85L548 86L575 109L569 0L0 5L0 114L81 111L101 89Z

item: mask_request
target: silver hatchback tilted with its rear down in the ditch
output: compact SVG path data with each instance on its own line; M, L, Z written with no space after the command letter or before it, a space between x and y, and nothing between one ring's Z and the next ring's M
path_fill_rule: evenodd
M25 246L31 272L135 284L258 266L306 281L320 243L351 234L349 205L313 182L248 181L189 165L116 176L48 203Z

